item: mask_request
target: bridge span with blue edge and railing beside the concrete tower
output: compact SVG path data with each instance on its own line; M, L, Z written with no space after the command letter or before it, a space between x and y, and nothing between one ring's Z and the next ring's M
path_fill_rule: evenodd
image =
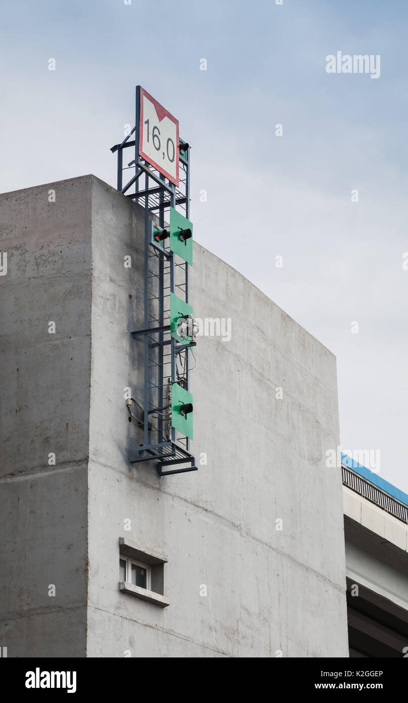
M408 496L343 456L350 657L408 657Z

